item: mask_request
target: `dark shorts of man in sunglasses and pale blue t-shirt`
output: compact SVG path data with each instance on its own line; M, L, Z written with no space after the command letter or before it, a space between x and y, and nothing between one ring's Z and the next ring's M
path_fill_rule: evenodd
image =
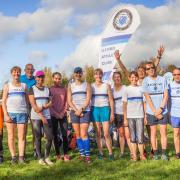
M168 124L168 113L163 115L163 118L161 120L157 119L154 115L147 114L147 121L149 126L153 125L166 125Z

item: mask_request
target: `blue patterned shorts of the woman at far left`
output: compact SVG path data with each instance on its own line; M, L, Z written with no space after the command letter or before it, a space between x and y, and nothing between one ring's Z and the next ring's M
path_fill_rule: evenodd
M27 113L8 113L14 124L25 124L28 122Z

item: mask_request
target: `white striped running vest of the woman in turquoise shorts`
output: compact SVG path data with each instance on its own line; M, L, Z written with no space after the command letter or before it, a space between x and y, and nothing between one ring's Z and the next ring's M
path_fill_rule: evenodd
M108 88L106 83L102 83L100 87L97 87L95 83L92 84L92 106L104 107L109 106Z

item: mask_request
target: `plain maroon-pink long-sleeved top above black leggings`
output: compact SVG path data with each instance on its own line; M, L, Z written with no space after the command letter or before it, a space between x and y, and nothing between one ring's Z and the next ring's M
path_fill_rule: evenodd
M52 86L50 88L52 96L52 106L50 107L51 116L63 118L67 107L67 90L62 86Z

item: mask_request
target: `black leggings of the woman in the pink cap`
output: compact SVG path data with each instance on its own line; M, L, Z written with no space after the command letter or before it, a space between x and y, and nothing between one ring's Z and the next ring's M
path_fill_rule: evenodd
M38 155L38 159L42 158L42 154L41 154L42 128L46 135L45 158L47 158L50 154L52 140L53 140L51 120L48 119L48 124L43 124L41 120L32 120L32 124L35 135L35 145L36 145L36 152Z

